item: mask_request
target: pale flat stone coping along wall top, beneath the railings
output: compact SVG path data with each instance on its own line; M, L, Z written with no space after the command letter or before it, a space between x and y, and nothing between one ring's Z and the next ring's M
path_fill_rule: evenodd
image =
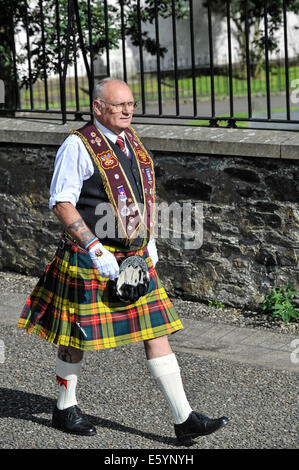
M0 143L58 146L72 129L82 124L0 118ZM288 131L165 124L133 124L133 127L153 151L299 159L299 137Z

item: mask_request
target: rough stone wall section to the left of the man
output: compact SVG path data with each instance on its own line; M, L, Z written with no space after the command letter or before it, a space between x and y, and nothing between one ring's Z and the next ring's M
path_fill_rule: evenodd
M61 225L49 210L56 148L0 146L0 269L40 275Z

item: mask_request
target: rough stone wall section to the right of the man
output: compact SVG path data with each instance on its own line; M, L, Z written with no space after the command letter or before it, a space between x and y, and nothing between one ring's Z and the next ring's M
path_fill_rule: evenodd
M160 200L203 203L199 249L160 242L169 291L256 309L272 286L299 287L294 161L159 153L156 171Z

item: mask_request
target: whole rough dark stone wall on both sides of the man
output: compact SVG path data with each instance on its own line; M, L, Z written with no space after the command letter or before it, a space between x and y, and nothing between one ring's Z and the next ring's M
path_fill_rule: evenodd
M139 130L146 134L146 127ZM61 226L48 209L49 185L57 148L68 130L59 131L50 145L50 134L28 137L19 130L1 135L0 125L0 269L40 275L55 253ZM188 152L182 142L177 150L184 147L185 152L173 150L167 139L158 145L157 127L152 141L144 135L154 150L158 202L203 204L202 246L186 250L181 239L158 239L157 269L172 295L256 309L272 286L290 281L299 289L295 148L290 159L281 158L281 148L277 157L237 156L237 144L230 146L232 155L217 154L211 131L210 154L198 152L207 149L200 141ZM289 143L287 133L282 134ZM269 142L277 146L275 138ZM258 151L264 153L265 144Z

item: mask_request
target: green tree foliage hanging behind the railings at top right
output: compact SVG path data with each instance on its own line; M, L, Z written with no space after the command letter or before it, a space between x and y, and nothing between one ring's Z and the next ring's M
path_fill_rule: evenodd
M206 0L204 6L207 8L208 3L211 10L217 14L226 17L227 2L223 0ZM249 57L251 62L251 74L255 76L262 68L263 57L265 51L265 43L269 52L278 49L277 31L283 25L283 0L230 0L230 16L235 25L234 34L238 46L241 63L246 70L246 4L247 4L247 21L249 32ZM286 10L299 13L299 0L286 1ZM265 10L265 7L267 10ZM264 15L267 11L267 32L266 39L264 28Z

